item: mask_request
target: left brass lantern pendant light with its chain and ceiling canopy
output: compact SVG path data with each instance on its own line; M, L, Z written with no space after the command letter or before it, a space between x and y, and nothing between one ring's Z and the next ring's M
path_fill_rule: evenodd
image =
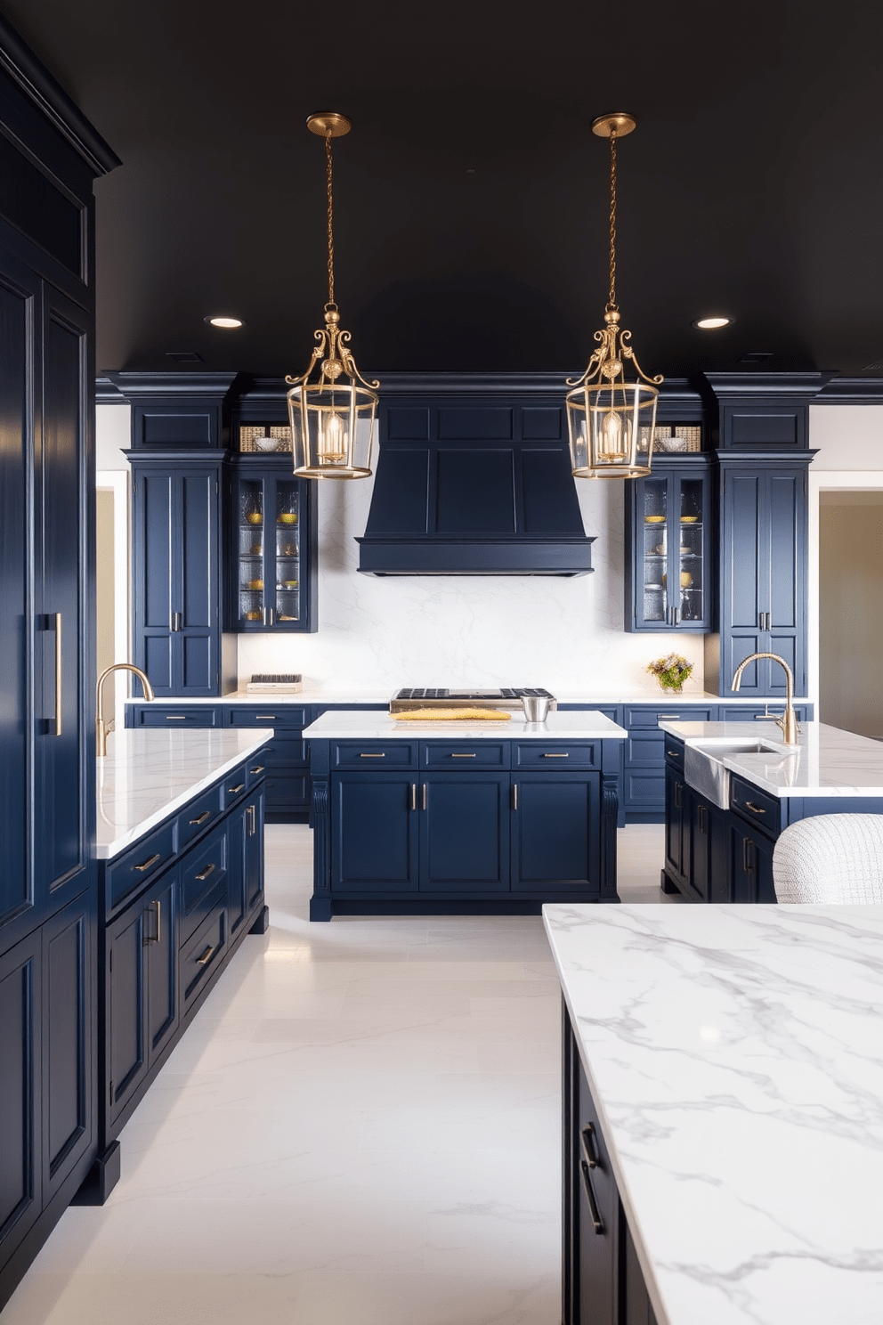
M294 473L298 478L368 478L373 448L376 388L365 382L349 351L349 333L340 329L340 313L334 302L334 193L331 139L342 138L352 122L336 110L310 115L307 129L324 138L328 182L328 302L324 327L314 334L315 346L307 371L286 378L291 423ZM310 374L319 364L319 376ZM346 378L346 382L340 379Z

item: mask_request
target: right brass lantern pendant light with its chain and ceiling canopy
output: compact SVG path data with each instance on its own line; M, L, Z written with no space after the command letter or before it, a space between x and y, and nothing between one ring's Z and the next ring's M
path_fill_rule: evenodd
M605 327L594 333L598 344L581 378L567 384L567 423L575 478L639 478L650 473L653 433L657 421L657 387L662 376L641 370L631 333L620 327L616 299L617 138L635 127L633 115L601 115L592 125L598 138L610 139L610 288ZM637 378L625 379L625 366Z

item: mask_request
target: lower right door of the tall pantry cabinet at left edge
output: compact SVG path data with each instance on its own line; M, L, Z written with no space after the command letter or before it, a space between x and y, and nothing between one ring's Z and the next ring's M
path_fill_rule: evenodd
M94 961L85 896L44 928L44 1204L94 1143Z

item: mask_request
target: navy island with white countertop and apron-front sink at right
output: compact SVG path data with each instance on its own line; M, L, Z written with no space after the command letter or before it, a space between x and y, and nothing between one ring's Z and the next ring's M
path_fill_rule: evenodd
M666 733L662 888L691 901L774 902L773 849L810 815L883 814L883 743L804 722L797 746L772 722L659 722ZM721 749L721 745L732 749ZM740 743L756 749L736 749ZM715 753L716 786L700 749ZM760 749L765 747L765 749ZM723 775L721 775L723 774Z

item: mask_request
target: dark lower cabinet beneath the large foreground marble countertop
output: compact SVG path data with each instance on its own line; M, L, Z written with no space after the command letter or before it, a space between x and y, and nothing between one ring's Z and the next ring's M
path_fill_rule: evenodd
M657 1325L567 1011L563 1065L563 1325Z

